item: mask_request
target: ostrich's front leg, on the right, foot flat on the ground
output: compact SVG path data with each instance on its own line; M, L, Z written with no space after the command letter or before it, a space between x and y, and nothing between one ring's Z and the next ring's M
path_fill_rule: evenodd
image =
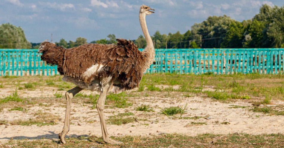
M110 78L110 77L109 77ZM103 114L103 109L104 109L104 105L105 105L105 101L106 101L106 94L109 91L109 87L112 85L112 80L107 80L108 78L105 78L103 80L101 80L101 92L100 92L100 96L97 102L97 110L100 116L100 124L102 127L102 133L103 133L103 141L105 143L109 143L109 144L122 144L122 142L119 141L115 141L112 140L111 138L109 138L109 134L106 130L106 122L105 122L105 117Z

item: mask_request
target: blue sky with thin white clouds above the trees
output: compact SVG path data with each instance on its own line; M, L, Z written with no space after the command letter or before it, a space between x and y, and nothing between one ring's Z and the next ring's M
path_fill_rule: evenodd
M142 34L138 21L141 4L155 13L147 16L150 35L185 33L208 16L224 15L242 21L252 18L262 4L283 6L283 0L0 0L0 23L22 27L31 42L50 40L87 41L106 38L136 39Z

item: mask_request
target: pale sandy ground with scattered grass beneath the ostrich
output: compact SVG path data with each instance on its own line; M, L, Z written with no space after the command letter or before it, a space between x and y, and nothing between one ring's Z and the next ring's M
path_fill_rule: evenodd
M178 86L176 86L178 87ZM3 96L9 95L13 88L0 89ZM208 90L211 90L208 87ZM213 90L213 89L212 89ZM19 95L22 97L54 97L56 92L53 88L43 90L21 90ZM64 94L64 91L57 91ZM91 93L83 91L83 93ZM94 93L94 92L92 92ZM167 92L163 92L167 93ZM175 97L161 95L161 92L149 92L152 96L129 97L132 106L128 108L106 108L105 115L117 115L123 112L133 112L138 120L122 125L107 125L109 135L149 135L161 133L184 133L186 135L197 135L202 133L228 134L228 133L248 133L248 134L271 134L284 133L284 116L265 115L249 110L251 103L238 100L232 103L222 103L213 101L211 98L201 96L185 97L181 92L173 92ZM154 94L154 95L153 95ZM37 104L28 108L26 112L9 111L10 108L4 108L0 111L0 120L15 120L33 118L33 112L42 110L54 115L60 116L60 121L56 125L48 126L20 126L20 125L0 125L0 143L7 142L9 139L40 139L40 138L58 138L58 133L62 131L65 107L64 98L61 102L52 106L42 107ZM86 98L87 99L87 98ZM70 131L66 137L70 136L101 136L100 119L97 110L91 110L91 104L85 104L79 100L71 107L71 125ZM155 112L136 111L135 107L141 104L148 104L153 107ZM170 106L181 106L187 104L187 112L182 117L202 116L197 120L179 119L172 116L161 115L161 108ZM272 101L272 105L284 104L284 101ZM230 108L232 105L249 106L248 108ZM179 115L177 116L179 117ZM93 123L88 121L94 120ZM190 125L191 122L205 122L207 125ZM230 124L221 124L229 122ZM149 124L149 125L148 125ZM134 126L133 126L134 125Z

